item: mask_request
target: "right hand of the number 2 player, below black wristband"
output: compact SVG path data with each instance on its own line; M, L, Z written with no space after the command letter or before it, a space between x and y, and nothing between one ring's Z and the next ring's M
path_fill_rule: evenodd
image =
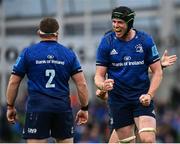
M85 124L88 121L88 111L79 110L75 119L77 125Z

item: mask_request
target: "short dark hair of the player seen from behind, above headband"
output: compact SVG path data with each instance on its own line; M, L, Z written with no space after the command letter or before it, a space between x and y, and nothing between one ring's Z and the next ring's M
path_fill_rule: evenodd
M59 24L55 18L43 18L39 24L39 30L46 34L56 33L59 29Z

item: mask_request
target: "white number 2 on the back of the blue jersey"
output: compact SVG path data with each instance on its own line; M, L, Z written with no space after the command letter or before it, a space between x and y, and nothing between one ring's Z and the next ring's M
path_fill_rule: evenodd
M46 70L46 76L49 77L49 79L46 83L46 88L54 88L55 84L53 84L52 81L53 81L53 78L55 77L55 70L47 69Z

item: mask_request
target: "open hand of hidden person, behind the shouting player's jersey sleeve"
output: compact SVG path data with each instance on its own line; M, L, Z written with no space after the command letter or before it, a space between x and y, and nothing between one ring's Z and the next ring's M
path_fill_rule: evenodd
M165 50L162 58L161 58L161 65L163 67L167 67L167 66L171 66L173 65L177 60L177 56L176 55L168 55L168 51Z

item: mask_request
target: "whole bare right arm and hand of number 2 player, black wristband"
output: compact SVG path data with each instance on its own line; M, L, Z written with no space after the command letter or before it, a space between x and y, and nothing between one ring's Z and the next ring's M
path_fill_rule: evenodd
M88 88L83 72L76 73L72 76L73 81L76 84L81 109L76 115L76 121L78 124L84 124L88 120Z

